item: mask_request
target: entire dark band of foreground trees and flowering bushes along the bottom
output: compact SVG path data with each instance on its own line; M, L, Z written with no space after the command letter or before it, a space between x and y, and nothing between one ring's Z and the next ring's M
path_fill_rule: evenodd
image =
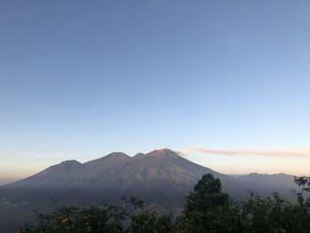
M36 213L35 224L22 223L19 232L310 232L310 177L295 177L297 202L281 197L261 198L250 192L235 202L221 192L221 181L203 175L185 198L182 214L150 212L142 201L124 198L122 205L59 207L51 214Z

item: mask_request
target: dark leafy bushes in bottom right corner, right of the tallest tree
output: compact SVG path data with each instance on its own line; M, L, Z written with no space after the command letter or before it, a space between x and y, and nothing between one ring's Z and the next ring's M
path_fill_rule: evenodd
M272 198L250 193L241 204L244 232L310 232L310 215L273 192Z

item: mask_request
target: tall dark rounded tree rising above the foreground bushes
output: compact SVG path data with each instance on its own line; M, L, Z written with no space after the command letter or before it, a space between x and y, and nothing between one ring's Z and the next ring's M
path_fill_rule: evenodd
M185 201L184 215L179 218L185 232L242 232L236 207L212 174L203 175Z

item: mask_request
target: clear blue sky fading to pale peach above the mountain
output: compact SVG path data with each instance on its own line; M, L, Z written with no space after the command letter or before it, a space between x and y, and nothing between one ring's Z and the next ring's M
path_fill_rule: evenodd
M160 148L310 148L309 1L0 3L0 183ZM192 151L225 174L310 153Z

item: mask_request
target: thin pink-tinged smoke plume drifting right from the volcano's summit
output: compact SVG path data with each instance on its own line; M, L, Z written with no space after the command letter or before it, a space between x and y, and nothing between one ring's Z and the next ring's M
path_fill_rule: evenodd
M200 147L185 148L180 151L181 154L187 155L193 152L203 152L208 154L224 155L263 155L263 156L301 156L310 157L310 149L266 149L266 150L212 150Z

